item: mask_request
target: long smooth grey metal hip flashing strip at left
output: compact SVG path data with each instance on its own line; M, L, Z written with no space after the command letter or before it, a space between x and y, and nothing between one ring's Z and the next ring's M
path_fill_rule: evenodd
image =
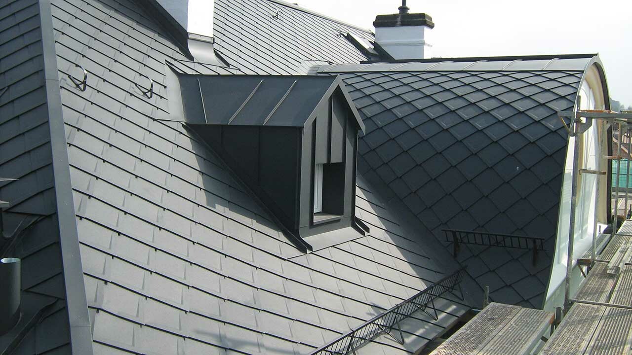
M92 333L88 304L83 284L83 268L79 251L75 205L70 181L70 165L66 145L66 130L61 107L59 71L52 24L51 1L40 0L40 19L44 56L44 76L51 134L52 165L55 182L59 244L62 255L63 277L66 289L66 308L70 323L70 340L73 354L92 354Z

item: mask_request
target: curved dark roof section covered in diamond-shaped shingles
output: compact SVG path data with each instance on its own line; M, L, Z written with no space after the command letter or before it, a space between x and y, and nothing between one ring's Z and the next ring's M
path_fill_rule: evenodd
M442 243L442 228L546 238L535 265L526 250L461 245L458 255L494 301L540 308L568 139L556 112L573 107L592 57L317 71L342 75L363 117L358 164L375 171Z

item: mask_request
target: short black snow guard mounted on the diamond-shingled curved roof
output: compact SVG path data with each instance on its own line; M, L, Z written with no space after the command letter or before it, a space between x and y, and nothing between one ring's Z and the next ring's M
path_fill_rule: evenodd
M441 229L441 231L446 234L446 241L454 243L454 256L458 255L461 244L501 246L503 248L533 250L533 264L535 264L538 258L538 250L544 250L544 238L541 237L462 231L461 229Z

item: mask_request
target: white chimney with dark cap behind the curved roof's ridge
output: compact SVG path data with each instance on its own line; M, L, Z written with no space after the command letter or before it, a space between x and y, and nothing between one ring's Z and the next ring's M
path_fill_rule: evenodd
M394 59L424 59L430 57L427 39L434 28L432 18L425 13L408 13L406 0L402 0L399 13L377 15L375 42Z

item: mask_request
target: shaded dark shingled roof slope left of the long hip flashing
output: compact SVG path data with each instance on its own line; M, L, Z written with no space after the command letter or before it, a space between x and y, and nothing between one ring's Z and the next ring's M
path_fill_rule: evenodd
M15 328L22 334L0 337L0 349L9 347L11 354L69 352L42 32L35 0L0 1L0 176L16 179L0 181L0 200L10 203L2 216L4 233L13 236L0 237L0 258L21 258L22 303L33 310L25 312ZM14 234L16 230L22 232ZM36 311L41 311L40 322L25 327L26 318Z

